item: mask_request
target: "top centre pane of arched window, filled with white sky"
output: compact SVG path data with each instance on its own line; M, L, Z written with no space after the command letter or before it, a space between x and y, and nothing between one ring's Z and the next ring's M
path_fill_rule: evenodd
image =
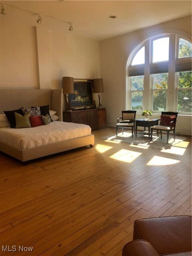
M169 37L153 41L153 62L169 60Z

